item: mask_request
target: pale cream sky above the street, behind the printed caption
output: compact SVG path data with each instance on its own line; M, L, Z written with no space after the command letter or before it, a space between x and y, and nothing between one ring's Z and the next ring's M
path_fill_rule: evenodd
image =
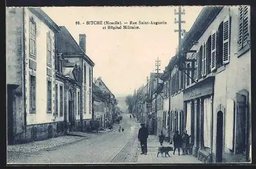
M202 6L184 6L181 28L189 31ZM86 53L95 63L93 76L101 77L116 96L133 94L155 72L155 61L161 60L160 72L168 65L178 46L178 24L174 23L178 7L43 7L59 26L66 26L79 44L79 34L86 34ZM79 21L80 24L76 24ZM105 30L87 21L137 22L137 30ZM139 21L165 21L166 24L138 24ZM84 23L84 24L83 24ZM108 26L108 25L106 25ZM115 26L115 25L114 25Z

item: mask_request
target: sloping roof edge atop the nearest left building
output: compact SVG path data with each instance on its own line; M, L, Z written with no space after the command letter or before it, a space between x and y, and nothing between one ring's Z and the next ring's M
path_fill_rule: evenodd
M28 8L33 14L35 14L40 20L42 20L54 33L60 32L60 27L43 11L40 7Z

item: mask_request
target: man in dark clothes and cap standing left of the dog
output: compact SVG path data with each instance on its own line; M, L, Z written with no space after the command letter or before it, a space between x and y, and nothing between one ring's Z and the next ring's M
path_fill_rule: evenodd
M147 137L148 137L148 129L145 127L145 123L141 123L141 128L139 129L138 133L138 140L140 142L141 146L141 153L145 154L147 153Z

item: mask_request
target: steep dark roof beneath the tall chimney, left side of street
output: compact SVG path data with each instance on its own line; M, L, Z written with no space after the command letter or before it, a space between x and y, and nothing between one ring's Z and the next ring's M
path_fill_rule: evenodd
M70 55L70 57L77 57L77 55L81 55L84 59L88 61L91 66L94 66L94 62L88 57L86 53L84 53L83 49L77 44L73 36L67 30L65 26L59 26L60 32L56 34L56 48L58 53L65 53L66 55Z

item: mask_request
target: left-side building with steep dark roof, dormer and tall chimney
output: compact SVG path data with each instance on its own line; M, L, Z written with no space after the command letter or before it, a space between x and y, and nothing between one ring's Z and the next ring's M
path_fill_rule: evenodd
M67 131L87 130L92 119L94 63L86 54L86 35L79 34L78 45L66 27L60 26L56 53L56 81L64 85L61 120L67 125Z

